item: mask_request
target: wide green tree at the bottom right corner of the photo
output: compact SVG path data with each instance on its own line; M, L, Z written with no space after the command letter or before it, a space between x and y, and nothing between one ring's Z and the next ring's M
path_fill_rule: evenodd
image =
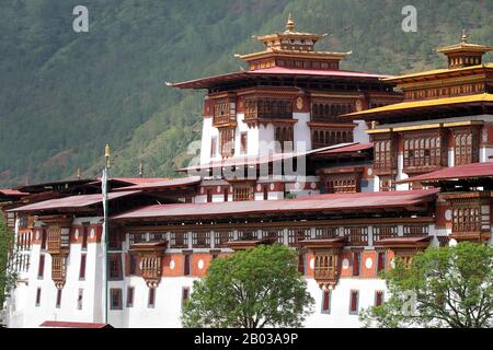
M493 326L493 248L459 243L429 247L409 267L395 259L383 273L390 298L362 313L366 327Z

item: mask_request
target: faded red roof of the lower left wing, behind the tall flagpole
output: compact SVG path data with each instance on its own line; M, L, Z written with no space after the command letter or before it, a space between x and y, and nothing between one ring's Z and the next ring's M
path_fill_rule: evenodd
M139 194L139 190L133 191L122 191L122 192L111 192L108 194L108 200L116 198L122 198L135 194ZM101 203L103 201L103 196L101 194L95 195L81 195L81 196L70 196L65 198L49 199L41 201L37 203L19 207L11 209L9 211L42 211L42 210L54 210L54 209L77 209L84 208L93 205Z

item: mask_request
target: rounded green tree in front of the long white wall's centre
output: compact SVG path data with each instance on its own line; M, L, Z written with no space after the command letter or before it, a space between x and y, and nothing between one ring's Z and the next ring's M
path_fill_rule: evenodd
M297 264L297 254L279 244L213 260L207 276L194 282L183 326L301 327L314 301Z

